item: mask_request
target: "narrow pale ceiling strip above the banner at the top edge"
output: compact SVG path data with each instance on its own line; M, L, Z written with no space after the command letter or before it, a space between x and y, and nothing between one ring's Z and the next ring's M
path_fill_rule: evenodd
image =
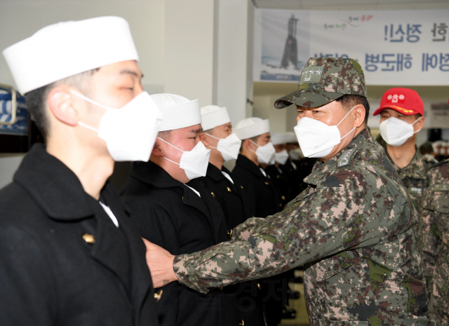
M257 8L303 10L413 10L449 8L449 0L252 0Z

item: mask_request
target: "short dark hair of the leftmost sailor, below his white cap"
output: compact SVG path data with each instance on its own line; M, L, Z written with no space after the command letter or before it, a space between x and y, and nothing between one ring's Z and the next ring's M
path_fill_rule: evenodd
M50 91L62 84L69 85L78 88L84 95L88 96L90 77L98 71L98 69L88 70L87 72L81 72L81 74L76 74L74 76L69 76L60 81L55 81L54 83L42 86L41 88L36 88L25 94L25 101L27 103L27 109L36 123L36 127L41 132L43 139L46 140L48 135L48 116L46 116L46 102Z

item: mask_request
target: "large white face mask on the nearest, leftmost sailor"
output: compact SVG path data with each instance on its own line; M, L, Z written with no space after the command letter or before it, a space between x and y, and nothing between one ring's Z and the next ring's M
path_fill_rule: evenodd
M162 119L159 107L147 92L140 93L121 109L107 107L74 90L70 92L106 109L98 129L81 121L78 124L98 133L98 137L106 142L107 151L114 161L149 160Z

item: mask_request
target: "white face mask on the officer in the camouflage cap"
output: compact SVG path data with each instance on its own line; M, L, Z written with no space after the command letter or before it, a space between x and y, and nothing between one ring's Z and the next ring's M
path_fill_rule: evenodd
M351 109L351 111L354 107ZM349 111L344 118L351 113ZM344 120L342 118L342 121ZM297 141L300 143L302 154L305 157L321 158L328 156L335 145L340 144L340 141L352 133L356 127L352 128L349 133L341 137L338 125L342 123L340 121L337 125L326 125L321 121L314 120L312 118L301 118L298 121L295 128Z

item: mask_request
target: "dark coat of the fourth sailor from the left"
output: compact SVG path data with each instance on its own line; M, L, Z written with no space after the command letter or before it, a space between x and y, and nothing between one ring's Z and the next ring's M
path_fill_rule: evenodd
M267 217L279 211L279 195L273 182L269 177L265 177L260 167L249 158L239 154L236 166L232 170L232 177L235 177L248 193L248 209L251 216Z

